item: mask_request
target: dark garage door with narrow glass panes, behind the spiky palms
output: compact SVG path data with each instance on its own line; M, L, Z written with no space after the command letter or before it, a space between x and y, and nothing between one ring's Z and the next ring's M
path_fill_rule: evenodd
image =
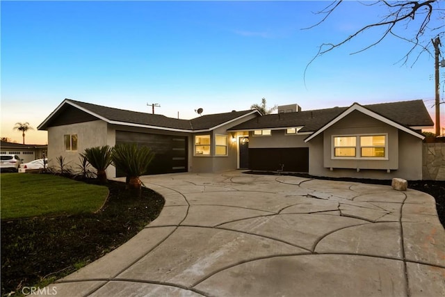
M116 144L119 143L138 143L152 149L155 156L148 174L187 171L187 136L116 131ZM124 173L117 170L116 176L122 177Z

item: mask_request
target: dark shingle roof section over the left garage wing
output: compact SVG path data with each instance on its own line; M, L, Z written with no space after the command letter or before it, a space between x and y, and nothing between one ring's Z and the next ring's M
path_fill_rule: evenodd
M60 106L58 106L58 109L56 109L53 114L51 114L46 120L44 120L44 122L40 124L38 129L47 129L47 127L51 126L51 121L54 122L54 120L51 120L51 118L57 118L58 114L63 113L63 111L67 110L65 106L67 104L69 104L69 106L74 106L71 107L72 109L76 108L85 111L89 114L90 118L94 116L94 118L102 118L102 120L106 120L109 122L120 122L133 125L159 127L160 129L179 129L184 131L213 129L218 125L222 125L243 115L254 113L254 111L252 110L232 111L229 113L202 115L192 120L181 120L176 118L168 118L165 115L141 113L138 111L127 111L124 109L114 109L107 106L79 102L72 99L65 99L63 104L60 104Z

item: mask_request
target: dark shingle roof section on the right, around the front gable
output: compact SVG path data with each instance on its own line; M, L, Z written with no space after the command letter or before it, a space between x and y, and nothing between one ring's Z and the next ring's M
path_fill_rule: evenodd
M363 107L405 127L434 125L422 100L371 104L364 105ZM313 132L321 129L321 127L325 126L331 120L334 120L334 118L337 118L337 116L348 108L349 107L334 107L332 109L264 115L243 122L229 130L302 127L300 132Z

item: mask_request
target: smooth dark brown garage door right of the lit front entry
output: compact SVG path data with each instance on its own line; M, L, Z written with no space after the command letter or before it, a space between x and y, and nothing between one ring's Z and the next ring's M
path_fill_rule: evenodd
M251 170L309 172L309 147L249 148Z

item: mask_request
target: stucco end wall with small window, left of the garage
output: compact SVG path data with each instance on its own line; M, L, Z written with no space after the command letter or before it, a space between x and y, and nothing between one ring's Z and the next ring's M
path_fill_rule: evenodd
M64 136L67 134L76 134L77 150L65 150ZM107 124L102 120L92 122L81 122L71 125L61 125L48 128L48 164L57 168L56 158L63 156L65 162L73 170L77 170L79 163L79 154L83 153L88 147L106 145L108 141Z

